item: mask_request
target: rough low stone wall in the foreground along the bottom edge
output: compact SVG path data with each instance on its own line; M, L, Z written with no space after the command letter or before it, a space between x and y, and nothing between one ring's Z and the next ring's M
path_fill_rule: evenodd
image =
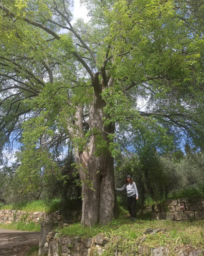
M56 232L52 231L47 236L45 246L48 256L95 256L103 255L109 242L103 233L94 238L69 238L59 237ZM169 251L168 246L152 247L137 243L133 246L135 246L135 255L138 256L204 256L202 249L193 248L191 245L182 246L182 248L175 246L173 252ZM124 252L117 250L112 255L122 256Z

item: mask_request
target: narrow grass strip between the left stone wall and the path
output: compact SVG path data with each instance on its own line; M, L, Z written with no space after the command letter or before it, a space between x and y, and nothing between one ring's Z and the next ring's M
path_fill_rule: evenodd
M24 223L16 222L10 224L0 223L1 229L12 229L12 230L22 230L22 231L40 231L41 225L36 223Z

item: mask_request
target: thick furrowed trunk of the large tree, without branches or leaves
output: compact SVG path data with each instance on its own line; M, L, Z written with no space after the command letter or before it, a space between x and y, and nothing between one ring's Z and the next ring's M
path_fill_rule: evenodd
M93 132L86 145L86 151L75 152L82 180L82 224L88 226L97 223L105 225L118 214L114 185L114 159L108 150L107 136L114 133L114 126L104 126L105 102L101 98L102 87L98 77L95 78L93 81L95 97L90 106L88 121L90 130ZM107 148L104 150L98 149L99 137L101 141L107 143Z

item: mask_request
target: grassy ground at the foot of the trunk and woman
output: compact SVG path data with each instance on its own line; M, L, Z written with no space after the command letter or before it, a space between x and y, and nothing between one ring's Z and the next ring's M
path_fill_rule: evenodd
M162 229L155 234L143 233L146 229ZM109 238L105 256L114 255L120 251L122 255L135 255L137 246L141 243L150 247L167 246L170 254L175 248L184 248L187 244L192 248L203 248L204 241L203 221L145 221L137 220L132 223L129 218L114 220L106 226L82 227L80 223L58 229L60 236L91 238L103 233Z

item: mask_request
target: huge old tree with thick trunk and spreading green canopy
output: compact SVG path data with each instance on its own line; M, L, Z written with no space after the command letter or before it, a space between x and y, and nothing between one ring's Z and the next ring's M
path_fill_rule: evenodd
M116 216L122 135L161 147L186 132L199 145L203 39L190 3L84 3L92 18L74 25L67 0L1 3L0 124L2 145L22 139L22 173L52 169L54 147L72 141L93 225Z

